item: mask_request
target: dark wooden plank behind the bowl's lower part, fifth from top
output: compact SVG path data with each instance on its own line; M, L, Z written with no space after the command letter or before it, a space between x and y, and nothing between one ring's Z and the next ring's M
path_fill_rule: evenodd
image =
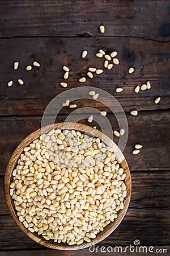
M129 208L120 226L99 246L126 246L134 240L141 241L141 245L169 245L169 210L167 209L138 209ZM1 250L36 249L43 248L19 230L11 216L0 218ZM10 243L9 243L10 239Z

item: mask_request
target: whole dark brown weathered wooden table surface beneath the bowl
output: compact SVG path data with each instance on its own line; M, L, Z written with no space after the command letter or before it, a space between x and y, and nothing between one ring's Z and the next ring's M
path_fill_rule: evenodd
M105 34L100 33L100 24L104 24ZM80 84L78 79L87 67L103 67L103 60L95 56L100 48L116 50L120 65ZM86 59L80 57L84 49ZM131 171L131 202L121 225L99 246L129 246L139 240L141 245L169 249L170 1L4 0L0 2L0 56L0 256L92 254L88 249L48 250L32 241L12 220L3 196L3 177L12 151L39 129L54 96L84 85L116 97L129 123L124 154ZM41 67L25 71L33 60ZM17 71L14 61L19 61ZM59 85L65 64L71 67L66 89ZM129 67L135 68L131 75ZM18 84L19 78L24 80L23 86ZM7 86L9 80L14 81L11 87ZM135 86L147 80L151 89L135 93ZM117 94L116 87L124 91ZM156 105L158 96L161 101ZM77 105L107 110L113 129L118 129L113 113L104 105L86 100ZM133 109L139 111L137 117L130 115ZM64 121L69 113L69 108L63 108L56 121ZM135 143L143 144L136 156L132 154Z

